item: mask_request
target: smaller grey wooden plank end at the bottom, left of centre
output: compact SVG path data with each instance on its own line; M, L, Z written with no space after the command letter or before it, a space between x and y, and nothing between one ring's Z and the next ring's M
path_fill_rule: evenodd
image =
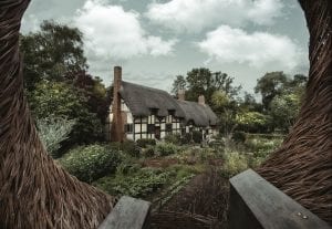
M151 204L124 196L116 204L98 229L147 228Z

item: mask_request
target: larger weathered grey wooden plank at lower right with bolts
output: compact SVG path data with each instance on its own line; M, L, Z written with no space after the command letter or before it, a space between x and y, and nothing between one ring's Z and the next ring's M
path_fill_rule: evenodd
M331 229L252 169L230 180L229 228Z

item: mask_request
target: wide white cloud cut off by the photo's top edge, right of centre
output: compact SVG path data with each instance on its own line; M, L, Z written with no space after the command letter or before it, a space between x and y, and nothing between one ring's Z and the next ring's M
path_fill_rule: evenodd
M270 25L282 8L281 0L170 0L151 3L145 15L177 32L200 32L220 23Z

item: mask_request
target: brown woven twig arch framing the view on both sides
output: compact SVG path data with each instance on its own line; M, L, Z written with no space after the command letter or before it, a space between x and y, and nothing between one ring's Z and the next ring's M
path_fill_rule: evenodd
M0 228L96 228L114 198L48 156L23 96L19 29L29 2L0 1ZM307 98L282 147L258 171L332 223L332 1L300 3L310 31Z

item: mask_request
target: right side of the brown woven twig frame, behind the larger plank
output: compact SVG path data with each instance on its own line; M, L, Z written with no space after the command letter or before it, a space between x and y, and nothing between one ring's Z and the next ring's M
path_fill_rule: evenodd
M332 1L301 0L310 72L298 122L258 173L332 225Z

